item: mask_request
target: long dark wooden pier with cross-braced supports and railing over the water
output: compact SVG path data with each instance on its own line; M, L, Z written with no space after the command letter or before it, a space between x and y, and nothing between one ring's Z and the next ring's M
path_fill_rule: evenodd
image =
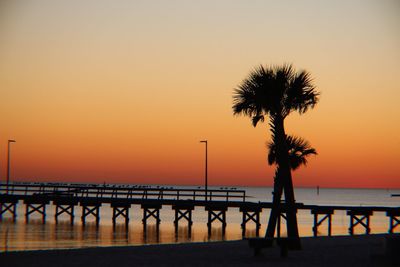
M118 219L122 219L125 226L129 225L129 210L132 206L139 206L143 211L142 224L144 233L147 225L155 222L159 231L161 224L160 210L170 206L175 212L175 233L178 225L187 224L188 236L192 231L192 212L201 208L207 212L207 221L204 222L211 235L213 225L222 227L222 235L228 224L226 212L229 208L237 208L242 213L242 235L246 234L249 224L255 226L256 236L259 236L261 221L260 213L263 209L271 209L270 202L248 201L245 190L212 189L204 190L179 189L160 186L134 186L134 185L106 185L106 184L70 184L70 183L0 183L0 220L6 214L17 219L16 208L19 203L25 205L25 220L29 221L30 215L38 214L42 222L46 223L46 208L50 204L55 207L56 223L62 214L69 217L74 224L76 207L81 208L80 219L85 226L88 218L94 218L96 226L101 221L101 207L109 205L112 208L112 223L115 226ZM332 235L332 221L337 210L346 211L349 217L348 232L354 235L355 229L362 229L365 234L371 232L370 218L374 212L386 213L389 227L388 233L400 230L400 207L359 207L359 206L318 206L296 203L297 210L309 210L314 216L312 231L318 235L318 227L327 224L327 235ZM278 218L277 235L280 235L281 220L286 218L286 205L281 204L281 216Z

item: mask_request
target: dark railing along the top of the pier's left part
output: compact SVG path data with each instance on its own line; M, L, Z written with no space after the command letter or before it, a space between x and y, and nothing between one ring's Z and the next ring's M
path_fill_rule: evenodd
M0 183L0 194L18 196L64 196L98 199L155 199L246 201L246 191L236 189L185 189L169 186L70 184L70 183Z

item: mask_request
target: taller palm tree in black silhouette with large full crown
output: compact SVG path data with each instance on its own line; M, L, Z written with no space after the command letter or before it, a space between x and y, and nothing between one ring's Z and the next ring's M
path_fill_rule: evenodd
M287 205L288 237L296 239L300 248L297 217L289 150L284 127L285 118L292 112L305 113L318 102L311 75L307 71L296 72L292 65L255 68L243 82L234 89L233 113L251 118L253 126L269 118L272 140L276 146L277 163L274 181L273 207L268 222L266 237L273 238L279 216L281 195L285 192Z

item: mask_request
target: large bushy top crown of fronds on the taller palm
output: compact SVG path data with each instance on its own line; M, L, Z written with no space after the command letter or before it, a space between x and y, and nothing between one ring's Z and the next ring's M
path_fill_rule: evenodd
M311 75L296 72L291 64L258 66L233 91L233 113L251 118L253 126L265 117L300 114L318 102Z

